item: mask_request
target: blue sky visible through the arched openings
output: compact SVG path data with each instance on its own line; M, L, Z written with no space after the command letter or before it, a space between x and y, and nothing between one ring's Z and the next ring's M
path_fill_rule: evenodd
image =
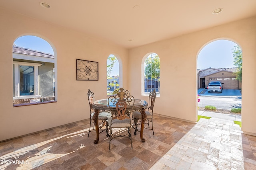
M54 54L51 45L36 36L26 35L19 37L14 41L16 46L25 47L33 50L38 50L50 54ZM217 40L206 45L198 55L197 69L205 68L229 68L235 67L233 64L233 50L236 43L228 40ZM160 57L161 61L161 57ZM119 64L116 62L111 76L119 75Z

